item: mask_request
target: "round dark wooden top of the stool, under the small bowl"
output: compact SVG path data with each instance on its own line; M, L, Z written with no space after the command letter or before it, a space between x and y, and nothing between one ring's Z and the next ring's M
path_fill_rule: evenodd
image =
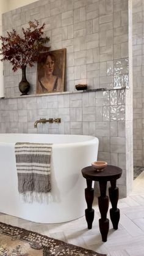
M122 174L122 169L107 165L103 171L96 171L93 166L88 166L82 169L82 176L85 179L92 179L93 181L111 181L112 179L119 179Z

